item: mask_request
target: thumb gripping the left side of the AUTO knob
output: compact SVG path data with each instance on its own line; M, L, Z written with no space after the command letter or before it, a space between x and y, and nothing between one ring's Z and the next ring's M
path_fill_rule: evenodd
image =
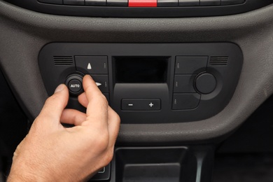
M68 100L69 91L66 85L59 85L55 93L45 101L38 118L43 118L42 120L46 120L46 122L59 124L59 119L62 116L62 111L64 111Z

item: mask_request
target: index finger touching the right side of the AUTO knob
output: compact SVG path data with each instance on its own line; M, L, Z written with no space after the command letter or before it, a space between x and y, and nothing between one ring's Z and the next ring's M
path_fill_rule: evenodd
M83 77L83 89L88 101L87 121L107 127L108 102L91 76Z

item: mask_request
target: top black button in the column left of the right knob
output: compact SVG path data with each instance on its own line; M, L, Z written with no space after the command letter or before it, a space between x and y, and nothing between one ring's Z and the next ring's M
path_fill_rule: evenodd
M206 71L208 57L176 57L176 74L192 74Z

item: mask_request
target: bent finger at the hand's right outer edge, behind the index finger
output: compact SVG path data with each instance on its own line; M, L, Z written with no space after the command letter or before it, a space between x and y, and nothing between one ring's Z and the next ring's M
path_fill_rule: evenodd
M118 137L118 131L120 130L120 116L108 107L108 130L109 130L109 147L113 147Z

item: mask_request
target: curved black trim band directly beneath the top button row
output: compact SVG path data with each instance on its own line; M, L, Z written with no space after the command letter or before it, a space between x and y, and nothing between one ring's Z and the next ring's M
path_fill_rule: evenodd
M267 6L269 0L246 0L245 3L228 6L186 6L186 7L118 7L118 6L65 6L39 3L36 0L6 0L22 8L54 15L90 17L200 17L232 15ZM145 0L143 0L145 1ZM153 1L153 0L149 0ZM142 4L142 3L141 3ZM143 4L142 4L143 5Z

